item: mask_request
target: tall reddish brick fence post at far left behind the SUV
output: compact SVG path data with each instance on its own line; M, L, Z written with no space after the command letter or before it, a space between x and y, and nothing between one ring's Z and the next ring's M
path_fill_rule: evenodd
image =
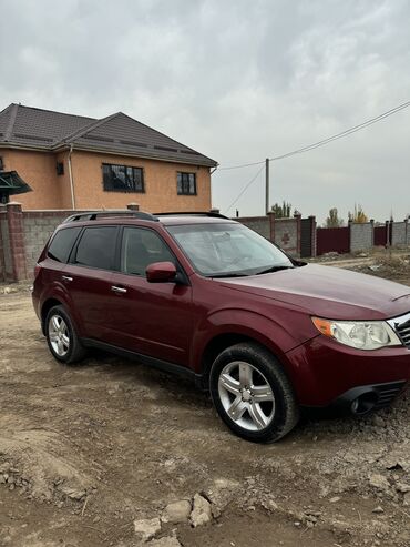
M21 210L21 204L17 202L10 202L6 207L13 276L10 281L23 281L28 278L23 212Z

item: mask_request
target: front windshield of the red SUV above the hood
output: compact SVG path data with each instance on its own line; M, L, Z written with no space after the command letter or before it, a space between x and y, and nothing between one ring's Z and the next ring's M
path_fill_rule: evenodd
M294 267L277 246L238 223L167 226L195 270L206 277L256 275Z

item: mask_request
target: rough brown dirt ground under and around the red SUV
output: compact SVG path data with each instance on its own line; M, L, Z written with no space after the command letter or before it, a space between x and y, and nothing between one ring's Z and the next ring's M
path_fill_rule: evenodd
M410 285L408 259L348 267ZM0 294L0 546L410 546L410 394L255 445L180 378L103 353L59 365L27 287ZM209 523L157 520L198 494Z

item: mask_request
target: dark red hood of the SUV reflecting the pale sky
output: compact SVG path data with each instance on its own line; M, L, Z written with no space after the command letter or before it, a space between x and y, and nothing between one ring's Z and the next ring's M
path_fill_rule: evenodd
M307 264L224 280L223 285L335 320L380 320L410 311L410 287L332 266Z

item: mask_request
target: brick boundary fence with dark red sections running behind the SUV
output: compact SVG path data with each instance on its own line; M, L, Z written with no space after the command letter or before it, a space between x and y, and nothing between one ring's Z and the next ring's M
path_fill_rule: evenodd
M137 210L136 204L129 209ZM66 216L86 211L22 211L19 203L0 205L0 282L31 280L35 261L40 256L54 229ZM274 213L266 216L235 219L264 237L275 242L293 256L316 256L328 251L367 251L378 244L410 246L408 220L387 222L386 226L375 226L373 221L348 227L317 229L315 216L301 219L275 219ZM377 231L380 232L377 232ZM338 233L340 232L340 237ZM375 234L378 234L377 237ZM386 243L382 239L386 239Z

